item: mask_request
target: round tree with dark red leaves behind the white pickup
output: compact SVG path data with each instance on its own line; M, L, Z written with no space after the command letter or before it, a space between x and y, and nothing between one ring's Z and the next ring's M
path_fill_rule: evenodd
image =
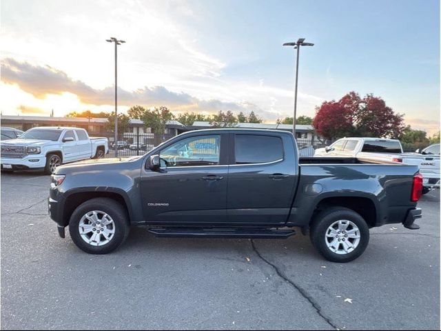
M316 108L313 122L318 134L327 139L341 137L397 138L404 130L402 114L395 114L380 97L363 99L349 92L339 101L325 101Z

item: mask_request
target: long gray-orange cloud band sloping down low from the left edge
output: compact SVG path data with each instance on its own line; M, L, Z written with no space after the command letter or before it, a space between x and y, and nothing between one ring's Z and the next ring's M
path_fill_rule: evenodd
M114 87L94 89L83 81L77 81L65 72L50 66L33 66L6 58L1 61L1 79L4 83L18 85L21 90L44 99L48 94L75 94L81 103L103 106L114 103ZM198 99L185 92L173 92L164 86L153 86L128 91L118 88L120 106L167 106L175 111L217 112L256 112L265 119L275 119L277 114L265 111L247 101L232 102L218 99Z

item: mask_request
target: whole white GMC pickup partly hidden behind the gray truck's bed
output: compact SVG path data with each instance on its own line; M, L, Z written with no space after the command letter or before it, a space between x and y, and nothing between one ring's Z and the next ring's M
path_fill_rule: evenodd
M423 176L423 194L426 194L432 188L440 187L439 152L439 144L438 155L403 153L399 140L357 137L338 139L331 146L318 148L314 157L356 157L362 161L418 165Z

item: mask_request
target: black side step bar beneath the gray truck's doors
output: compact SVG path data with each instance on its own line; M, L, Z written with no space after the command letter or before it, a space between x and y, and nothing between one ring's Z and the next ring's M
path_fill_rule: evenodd
M150 228L156 237L179 238L249 238L249 239L287 239L296 234L294 230L269 229L204 229L204 228Z

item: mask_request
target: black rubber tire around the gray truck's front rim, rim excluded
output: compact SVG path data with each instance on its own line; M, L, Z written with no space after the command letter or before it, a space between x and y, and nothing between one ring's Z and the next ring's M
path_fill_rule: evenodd
M81 237L79 223L85 214L98 210L108 214L114 221L114 235L108 243L103 245L92 245L86 243ZM119 248L119 246L127 239L130 232L129 220L127 212L123 206L108 198L95 198L81 203L70 217L69 233L75 245L89 254L107 254ZM103 234L101 234L102 236ZM91 234L92 237L92 234Z

